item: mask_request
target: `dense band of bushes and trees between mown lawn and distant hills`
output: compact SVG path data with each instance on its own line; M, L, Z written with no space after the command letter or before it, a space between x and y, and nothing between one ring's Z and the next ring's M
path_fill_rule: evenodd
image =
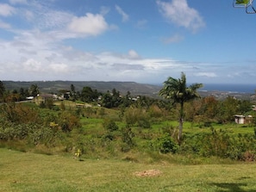
M71 86L66 100L36 105L7 99L24 96L1 86L0 146L47 153L79 150L91 158L141 152L152 157L163 153L256 159L256 129L244 131L253 130L256 121L251 118L244 127L234 124L234 115L255 115L251 101L207 96L184 103L184 121L190 124L178 142L179 108L165 100L120 96L117 90L99 93L89 87L79 93Z

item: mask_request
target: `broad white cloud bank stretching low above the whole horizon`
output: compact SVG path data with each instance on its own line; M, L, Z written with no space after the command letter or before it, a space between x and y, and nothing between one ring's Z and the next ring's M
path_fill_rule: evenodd
M237 74L240 77L248 77L244 74L255 68L255 65L251 65L241 71L236 67L231 73L228 70L229 65L142 58L134 49L128 53L88 53L72 46L63 46L56 41L53 43L50 37L40 32L23 32L20 35L22 36L11 42L0 40L0 75L3 80L62 79L162 83L167 77L179 77L180 72L184 71L190 82L198 82L198 79L201 79L199 82L205 84L213 80L219 83L222 79L227 79L228 75L230 81L234 81ZM230 72L227 74L227 71Z

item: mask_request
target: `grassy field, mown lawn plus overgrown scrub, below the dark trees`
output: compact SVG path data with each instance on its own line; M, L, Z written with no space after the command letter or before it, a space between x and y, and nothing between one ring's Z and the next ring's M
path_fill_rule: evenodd
M140 108L122 114L97 106L75 108L70 101L55 103L58 110L23 106L34 104L17 105L17 112L37 111L41 119L26 113L16 124L1 121L1 192L256 192L253 124L185 121L185 139L178 146L178 122L162 115L148 121ZM140 121L127 126L131 112ZM68 125L73 127L64 129ZM82 156L74 158L80 150Z

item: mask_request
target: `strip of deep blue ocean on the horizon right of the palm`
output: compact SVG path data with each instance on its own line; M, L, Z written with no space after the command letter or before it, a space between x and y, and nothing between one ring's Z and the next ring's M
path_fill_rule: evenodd
M228 91L237 93L255 93L256 84L203 84L204 91Z

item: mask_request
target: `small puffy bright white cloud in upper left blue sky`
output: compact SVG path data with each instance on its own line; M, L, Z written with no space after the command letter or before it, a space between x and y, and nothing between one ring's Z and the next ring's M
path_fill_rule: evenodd
M103 15L93 15L87 13L85 16L73 17L68 28L75 33L84 34L84 36L97 36L103 34L109 26L105 22Z

